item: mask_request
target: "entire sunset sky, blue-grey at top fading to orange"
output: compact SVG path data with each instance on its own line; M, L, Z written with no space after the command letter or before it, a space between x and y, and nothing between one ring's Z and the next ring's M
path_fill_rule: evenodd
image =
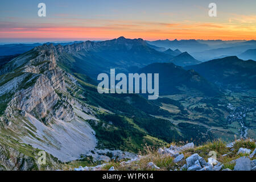
M38 4L46 4L46 17ZM217 17L208 15L216 3ZM0 42L256 39L255 0L1 0Z

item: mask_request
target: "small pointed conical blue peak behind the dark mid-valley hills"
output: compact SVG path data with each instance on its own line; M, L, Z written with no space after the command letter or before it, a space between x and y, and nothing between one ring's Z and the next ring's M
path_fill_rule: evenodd
M174 57L171 60L171 62L180 66L180 67L185 67L185 66L188 66L188 65L194 65L194 64L202 63L201 61L196 60L191 55L189 55L188 52L183 52L183 53L177 55L176 57Z

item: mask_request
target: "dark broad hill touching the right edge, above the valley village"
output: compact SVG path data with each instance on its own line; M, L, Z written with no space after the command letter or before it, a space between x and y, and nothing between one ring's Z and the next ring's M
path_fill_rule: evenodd
M209 81L229 89L256 88L256 62L253 60L243 61L237 56L229 56L188 66L185 69L194 69Z

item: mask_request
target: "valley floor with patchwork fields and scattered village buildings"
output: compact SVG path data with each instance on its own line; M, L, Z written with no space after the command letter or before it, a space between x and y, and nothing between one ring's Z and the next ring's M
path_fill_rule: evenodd
M246 92L226 92L225 96L205 100L204 97L189 97L185 94L161 96L179 101L188 111L180 115L181 109L172 104L163 104L162 109L174 115L157 118L168 119L175 125L179 123L198 124L206 127L216 138L231 142L236 138L256 137L256 90ZM236 135L236 136L235 136Z

